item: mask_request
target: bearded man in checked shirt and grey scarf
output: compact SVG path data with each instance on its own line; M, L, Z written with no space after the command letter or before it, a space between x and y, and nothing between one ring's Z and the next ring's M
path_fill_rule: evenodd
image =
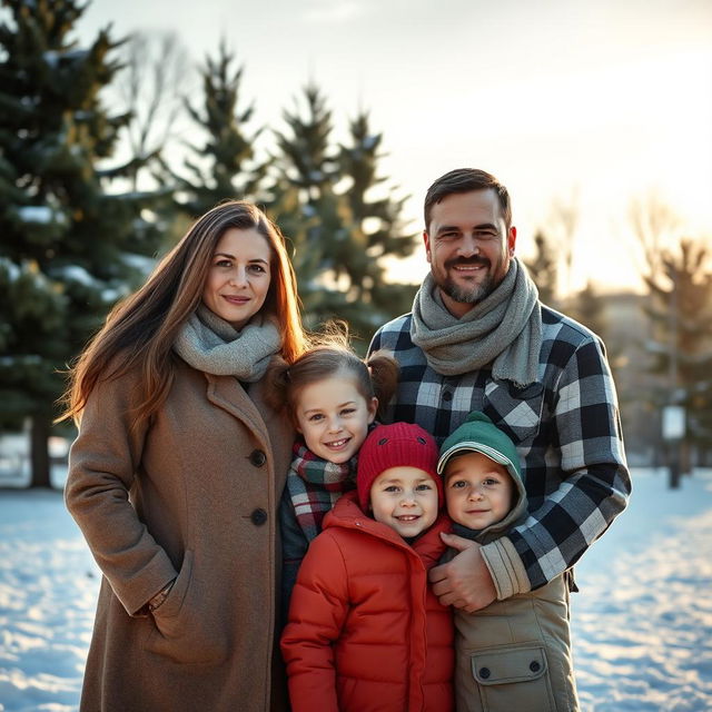
M438 178L423 238L431 271L413 312L370 345L400 365L388 418L439 444L483 411L515 442L530 501L527 521L491 544L446 537L461 553L431 571L433 590L472 612L570 570L623 511L631 482L603 343L538 301L514 256L506 188L483 170Z

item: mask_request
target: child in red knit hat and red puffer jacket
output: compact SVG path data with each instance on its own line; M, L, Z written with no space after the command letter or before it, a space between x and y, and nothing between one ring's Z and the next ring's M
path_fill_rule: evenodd
M281 651L294 712L448 712L453 625L427 586L445 546L437 446L379 425L301 563Z

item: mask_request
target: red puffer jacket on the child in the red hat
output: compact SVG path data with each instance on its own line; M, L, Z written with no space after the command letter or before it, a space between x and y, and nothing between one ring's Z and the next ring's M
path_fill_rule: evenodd
M453 623L427 585L435 524L408 546L345 494L299 568L281 651L293 712L453 710Z

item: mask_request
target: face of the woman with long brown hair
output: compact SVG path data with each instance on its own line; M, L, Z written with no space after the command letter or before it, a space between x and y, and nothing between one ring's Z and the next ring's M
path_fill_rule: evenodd
M202 303L241 329L263 307L271 281L271 251L255 228L230 228L215 247Z

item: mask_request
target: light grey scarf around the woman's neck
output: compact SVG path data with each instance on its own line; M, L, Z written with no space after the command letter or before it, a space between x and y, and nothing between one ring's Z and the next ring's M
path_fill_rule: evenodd
M280 348L281 336L271 320L256 316L245 328L236 329L202 304L174 344L176 353L194 368L246 383L259 380Z

